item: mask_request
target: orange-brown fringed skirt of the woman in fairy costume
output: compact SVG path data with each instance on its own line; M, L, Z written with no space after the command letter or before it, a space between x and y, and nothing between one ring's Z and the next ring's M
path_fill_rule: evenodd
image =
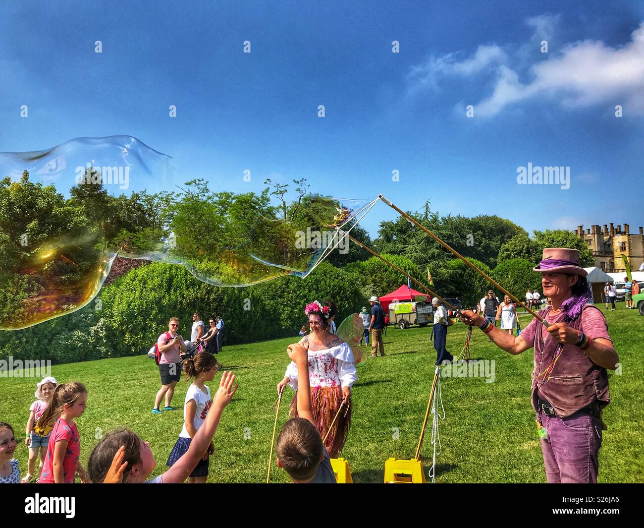
M342 389L340 387L311 387L311 414L316 422L317 430L324 439L327 436L330 425L336 417L337 409L342 404ZM353 402L343 407L333 424L331 433L327 437L325 447L330 458L337 456L345 447L346 438L351 427L351 411ZM293 401L290 403L290 417L298 416L298 392L296 391Z

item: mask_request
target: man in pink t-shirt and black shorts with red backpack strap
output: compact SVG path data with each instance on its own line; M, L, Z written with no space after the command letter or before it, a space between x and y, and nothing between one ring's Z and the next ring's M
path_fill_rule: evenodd
M177 331L179 329L179 320L172 317L167 325L168 331L162 333L156 340L156 346L161 353L159 361L159 373L161 375L161 388L156 393L155 407L152 409L153 415L160 415L163 411L159 410L161 399L166 396L166 407L164 411L174 411L171 407L172 396L175 395L175 385L181 378L181 353L185 354L184 338Z

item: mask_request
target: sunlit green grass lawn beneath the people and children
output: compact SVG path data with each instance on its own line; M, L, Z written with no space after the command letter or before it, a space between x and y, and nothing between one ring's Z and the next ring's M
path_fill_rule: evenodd
M636 310L623 309L623 303L618 306L615 312L601 306L620 355L621 375L609 371L611 405L603 415L609 430L603 436L599 480L644 482L644 318ZM521 321L525 327L527 316ZM352 429L343 451L354 482L383 482L387 458L412 458L415 453L436 360L430 331L430 327L388 329L386 357L369 358L359 368ZM465 337L464 325L451 327L448 350L459 353ZM214 437L209 482L265 482L274 420L270 407L289 362L285 348L294 341L296 338L285 338L224 347L219 359L236 373L240 388ZM495 360L495 381L442 378L446 418L440 422L442 453L436 482L545 482L530 406L532 351L511 356L475 329L471 355ZM79 380L88 387L88 408L77 420L82 464L86 465L100 431L127 426L150 442L157 461L153 476L165 471L183 416L180 410L151 415L160 384L153 360L138 356L63 364L53 366L52 375L59 382ZM218 378L209 384L213 393ZM0 378L0 421L14 426L19 441L37 381ZM184 380L178 384L175 406L183 407L187 386ZM292 395L287 387L278 427L287 420ZM425 471L431 464L430 436L428 429L421 454ZM19 445L16 456L24 474L28 456L24 444ZM275 460L271 481L288 482Z

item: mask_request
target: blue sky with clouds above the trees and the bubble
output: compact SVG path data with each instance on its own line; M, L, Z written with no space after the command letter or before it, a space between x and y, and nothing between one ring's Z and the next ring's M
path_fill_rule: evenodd
M213 190L307 177L528 231L636 231L644 4L603 4L3 2L0 152L133 135ZM517 184L529 163L570 166L570 188ZM393 217L379 204L363 226Z

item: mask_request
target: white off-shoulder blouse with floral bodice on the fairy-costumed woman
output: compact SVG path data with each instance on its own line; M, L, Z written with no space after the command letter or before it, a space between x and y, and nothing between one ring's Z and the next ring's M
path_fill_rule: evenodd
M298 390L298 366L290 362L285 377ZM354 353L346 343L323 350L308 351L308 379L311 387L351 387L358 378Z

